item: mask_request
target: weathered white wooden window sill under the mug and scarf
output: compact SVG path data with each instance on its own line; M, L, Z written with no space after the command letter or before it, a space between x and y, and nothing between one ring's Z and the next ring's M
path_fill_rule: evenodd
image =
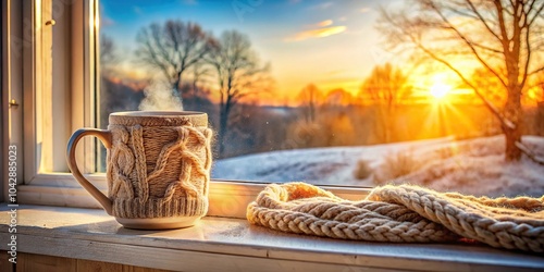
M10 240L0 207L0 239ZM172 231L122 227L102 210L21 205L17 251L184 271L542 270L544 258L485 246L378 244L274 232L205 218ZM8 250L8 243L0 249Z

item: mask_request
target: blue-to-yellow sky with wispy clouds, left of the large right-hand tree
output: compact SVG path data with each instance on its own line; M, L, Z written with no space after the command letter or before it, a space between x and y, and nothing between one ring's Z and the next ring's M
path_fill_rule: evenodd
M135 65L136 34L170 18L196 22L220 36L236 29L249 36L262 62L271 64L276 98L293 98L313 83L325 92L344 88L354 95L376 64L395 62L375 29L379 7L400 0L101 0L101 33L110 36L122 70L143 76Z

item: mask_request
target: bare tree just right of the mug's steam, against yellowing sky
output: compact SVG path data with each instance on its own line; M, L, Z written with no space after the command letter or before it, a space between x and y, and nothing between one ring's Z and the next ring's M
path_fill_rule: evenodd
M221 35L207 61L213 66L220 95L219 153L224 154L232 109L240 99L268 91L272 86L269 65L260 65L249 38L236 30Z

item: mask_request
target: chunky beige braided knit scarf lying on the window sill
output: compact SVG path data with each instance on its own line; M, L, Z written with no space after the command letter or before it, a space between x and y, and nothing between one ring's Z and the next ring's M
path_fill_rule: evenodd
M445 243L462 237L544 252L544 196L486 198L410 185L349 201L306 183L271 184L247 207L251 224L331 238Z

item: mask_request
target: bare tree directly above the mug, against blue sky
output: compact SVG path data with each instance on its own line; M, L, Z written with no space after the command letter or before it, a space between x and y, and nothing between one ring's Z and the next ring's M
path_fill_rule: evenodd
M183 73L201 62L217 47L217 40L200 25L180 20L143 27L136 40L137 58L158 69L172 85L174 95L180 97Z

